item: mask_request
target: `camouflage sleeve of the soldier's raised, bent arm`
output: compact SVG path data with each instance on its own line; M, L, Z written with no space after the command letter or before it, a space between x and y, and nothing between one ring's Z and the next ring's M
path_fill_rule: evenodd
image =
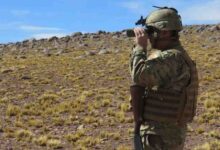
M158 57L147 60L144 56L133 55L131 68L132 81L145 87L164 87L174 80L190 76L189 69L180 52L164 51Z

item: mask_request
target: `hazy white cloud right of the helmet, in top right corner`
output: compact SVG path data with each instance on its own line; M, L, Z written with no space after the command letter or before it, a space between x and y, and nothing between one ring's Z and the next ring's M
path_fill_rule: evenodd
M220 21L220 0L192 5L182 11L182 16L189 21Z

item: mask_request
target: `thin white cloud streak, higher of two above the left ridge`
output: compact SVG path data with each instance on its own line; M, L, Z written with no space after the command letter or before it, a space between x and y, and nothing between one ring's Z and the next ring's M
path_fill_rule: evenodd
M61 31L63 30L61 28L56 28L56 27L33 26L33 25L21 25L19 29L25 30L25 31Z

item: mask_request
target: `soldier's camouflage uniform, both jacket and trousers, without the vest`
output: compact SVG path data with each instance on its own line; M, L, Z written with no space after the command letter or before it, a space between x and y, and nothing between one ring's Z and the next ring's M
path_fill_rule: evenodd
M153 50L146 54L136 46L130 60L133 84L148 89L169 89L181 91L189 82L190 68L181 53L184 51L179 42L172 48ZM141 126L141 137L145 150L181 150L186 135L186 124L145 122Z

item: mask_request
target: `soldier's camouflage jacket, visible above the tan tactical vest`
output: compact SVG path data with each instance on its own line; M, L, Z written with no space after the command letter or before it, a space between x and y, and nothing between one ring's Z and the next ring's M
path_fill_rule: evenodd
M152 50L149 54L140 46L134 47L130 59L133 84L181 91L190 79L190 68L181 55L183 51L179 42L171 49Z

